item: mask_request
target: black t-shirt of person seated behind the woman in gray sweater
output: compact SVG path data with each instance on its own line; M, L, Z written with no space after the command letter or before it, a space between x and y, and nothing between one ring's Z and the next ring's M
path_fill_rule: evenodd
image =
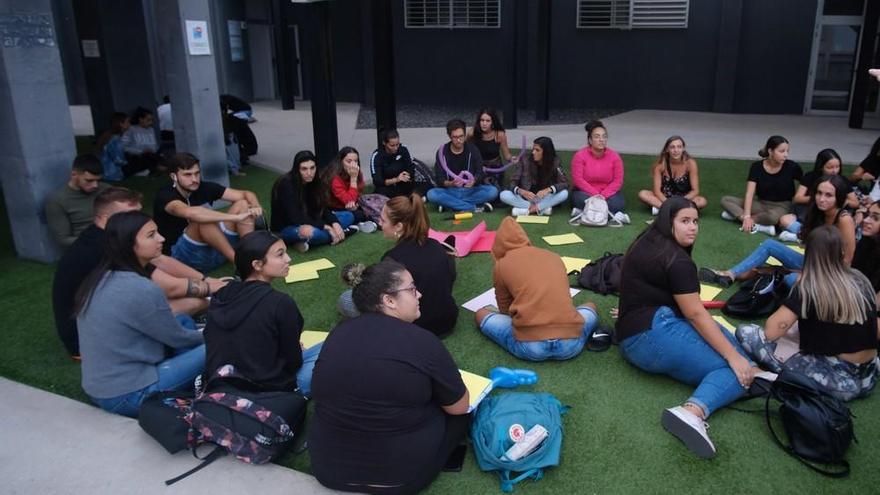
M61 256L52 281L52 312L61 342L72 356L79 355L79 332L73 305L80 284L104 258L104 230L95 226L82 231Z

